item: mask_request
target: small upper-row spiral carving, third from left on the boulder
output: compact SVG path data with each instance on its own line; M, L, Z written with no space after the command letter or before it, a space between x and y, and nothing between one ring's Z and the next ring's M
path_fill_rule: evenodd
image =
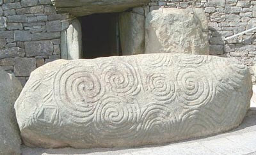
M153 73L149 75L147 84L157 101L171 103L175 99L175 83L166 74Z

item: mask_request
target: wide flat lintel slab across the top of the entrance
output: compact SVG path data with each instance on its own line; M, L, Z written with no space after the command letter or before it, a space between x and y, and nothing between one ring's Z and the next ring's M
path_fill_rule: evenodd
M143 6L149 0L52 0L58 11L81 17L93 13L121 12L136 6Z

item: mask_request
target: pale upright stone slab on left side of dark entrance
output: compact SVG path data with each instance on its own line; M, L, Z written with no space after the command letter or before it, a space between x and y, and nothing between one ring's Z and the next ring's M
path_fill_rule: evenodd
M82 55L82 28L79 20L72 20L67 31L61 35L61 58L74 60Z

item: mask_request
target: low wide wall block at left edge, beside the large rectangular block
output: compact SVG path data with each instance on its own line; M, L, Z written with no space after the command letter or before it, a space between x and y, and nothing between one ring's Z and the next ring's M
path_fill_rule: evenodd
M0 59L8 57L24 57L24 49L19 47L4 48L0 50Z

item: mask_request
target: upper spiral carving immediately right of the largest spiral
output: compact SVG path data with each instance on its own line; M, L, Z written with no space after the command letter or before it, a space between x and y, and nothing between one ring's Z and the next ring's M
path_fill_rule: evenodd
M131 64L122 61L105 62L100 68L111 91L125 95L135 95L140 91L138 75Z

